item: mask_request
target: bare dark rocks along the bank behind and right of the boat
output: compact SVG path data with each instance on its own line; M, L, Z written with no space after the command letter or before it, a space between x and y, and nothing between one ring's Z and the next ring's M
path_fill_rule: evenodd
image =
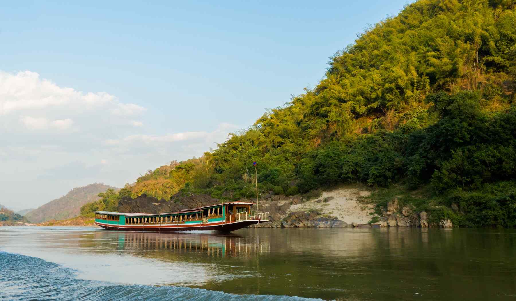
M246 201L253 201L251 199ZM255 200L254 200L255 201ZM414 213L411 208L399 208L398 200L393 199L388 204L383 216L376 223L366 224L356 220L344 221L338 217L321 212L318 209L295 210L296 205L308 203L330 205L338 201L334 197L315 198L308 200L302 196L285 197L274 195L272 192L264 195L257 208L258 212L269 212L271 222L251 225L251 228L343 228L343 227L453 227L451 221L442 220L440 224L430 224L425 211ZM341 200L342 201L342 200ZM347 201L354 201L352 199ZM170 201L158 200L144 194L132 199L121 200L118 204L119 212L166 213L188 208L202 207L224 202L206 194L182 194L172 196ZM363 204L362 204L363 205ZM324 208L324 207L322 207ZM361 210L361 209L357 209ZM370 209L369 209L370 211ZM354 216L353 214L351 214Z

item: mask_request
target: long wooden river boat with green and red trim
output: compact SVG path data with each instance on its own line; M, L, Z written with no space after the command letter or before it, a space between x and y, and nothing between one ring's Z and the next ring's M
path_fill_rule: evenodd
M161 214L95 212L95 225L127 231L234 231L270 220L268 212L253 212L250 202L227 202Z

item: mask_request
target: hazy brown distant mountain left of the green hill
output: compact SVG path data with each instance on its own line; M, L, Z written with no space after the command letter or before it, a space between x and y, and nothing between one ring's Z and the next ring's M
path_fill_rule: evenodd
M42 223L43 221L51 219L60 220L78 216L82 205L98 200L98 194L105 192L107 189L118 190L119 188L103 183L75 187L65 196L52 200L30 211L25 217L31 221L31 223Z

